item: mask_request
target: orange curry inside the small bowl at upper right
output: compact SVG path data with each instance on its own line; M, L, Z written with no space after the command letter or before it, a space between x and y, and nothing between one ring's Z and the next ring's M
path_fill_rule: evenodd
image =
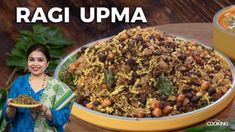
M235 32L235 10L222 14L218 22L223 29Z

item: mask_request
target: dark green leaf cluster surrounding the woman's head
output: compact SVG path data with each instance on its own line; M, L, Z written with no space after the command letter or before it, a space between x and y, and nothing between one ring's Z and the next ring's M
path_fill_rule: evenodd
M13 48L7 58L7 66L17 67L18 70L26 68L26 52L33 44L44 44L48 47L51 55L49 72L59 63L59 59L65 55L64 48L74 43L73 40L63 37L63 33L58 28L34 25L32 31L21 30L16 38L15 48Z

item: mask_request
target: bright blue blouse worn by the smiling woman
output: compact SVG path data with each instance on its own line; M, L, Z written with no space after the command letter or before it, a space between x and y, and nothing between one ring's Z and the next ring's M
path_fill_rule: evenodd
M29 74L18 77L8 93L7 99L16 98L21 94L31 96L40 101L44 89L34 92L29 84ZM12 123L11 132L33 132L35 121L31 117L31 109L17 108L16 115L13 119L7 117L6 102L2 108L2 115L8 122ZM52 121L47 120L48 125L55 126L58 132L64 132L63 125L68 121L70 116L70 103L60 110L51 109Z

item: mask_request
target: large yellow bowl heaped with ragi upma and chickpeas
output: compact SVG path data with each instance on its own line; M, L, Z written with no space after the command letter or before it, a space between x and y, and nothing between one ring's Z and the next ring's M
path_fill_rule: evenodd
M65 57L55 77L77 94L72 113L115 130L182 128L234 96L234 67L213 48L136 27Z

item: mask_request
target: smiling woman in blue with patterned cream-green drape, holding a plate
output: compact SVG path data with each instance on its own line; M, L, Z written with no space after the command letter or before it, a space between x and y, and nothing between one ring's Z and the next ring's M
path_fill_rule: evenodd
M3 116L12 123L10 131L62 132L70 116L74 94L64 83L45 74L50 61L46 46L32 45L27 51L27 58L30 74L20 76L13 82L8 101L2 109ZM40 106L34 109L10 106L9 100L21 94L39 101Z

